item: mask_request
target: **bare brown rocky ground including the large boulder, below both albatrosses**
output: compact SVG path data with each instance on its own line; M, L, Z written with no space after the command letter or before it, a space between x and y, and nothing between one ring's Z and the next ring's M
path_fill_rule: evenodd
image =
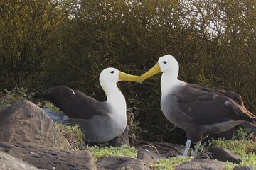
M117 137L112 145L123 144ZM182 145L145 142L137 146L137 158L106 157L95 160L88 150L71 151L53 120L30 101L20 101L0 111L0 169L150 169L149 164L176 157ZM222 147L211 147L176 169L225 169L226 162L241 158ZM250 169L246 166L234 169Z

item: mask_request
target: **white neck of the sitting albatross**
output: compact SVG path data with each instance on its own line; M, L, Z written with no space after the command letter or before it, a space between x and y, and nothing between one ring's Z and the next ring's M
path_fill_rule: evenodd
M126 101L122 92L118 89L114 82L107 82L102 85L102 89L107 95L107 104L112 108L113 114L125 115L126 118Z

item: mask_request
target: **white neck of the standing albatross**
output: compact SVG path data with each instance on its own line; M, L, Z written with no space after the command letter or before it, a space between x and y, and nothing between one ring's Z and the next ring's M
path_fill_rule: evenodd
M175 72L163 72L161 76L161 94L174 94L177 86L183 84L183 81L178 80L178 74Z

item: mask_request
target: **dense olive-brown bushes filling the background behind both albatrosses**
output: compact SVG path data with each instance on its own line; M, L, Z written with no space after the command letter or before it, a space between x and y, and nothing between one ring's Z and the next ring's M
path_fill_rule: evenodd
M255 16L247 0L0 0L0 90L65 85L102 101L102 69L142 74L171 54L179 79L236 91L255 113ZM184 142L161 113L159 77L119 87L142 137Z

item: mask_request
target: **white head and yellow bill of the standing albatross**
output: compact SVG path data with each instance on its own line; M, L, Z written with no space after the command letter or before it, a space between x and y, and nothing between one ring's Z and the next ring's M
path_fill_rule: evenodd
M149 77L152 77L159 72L169 72L171 76L177 78L178 69L179 67L177 60L172 55L164 55L163 57L159 58L154 67L140 76L139 81L142 83L142 81L145 79L148 79Z

